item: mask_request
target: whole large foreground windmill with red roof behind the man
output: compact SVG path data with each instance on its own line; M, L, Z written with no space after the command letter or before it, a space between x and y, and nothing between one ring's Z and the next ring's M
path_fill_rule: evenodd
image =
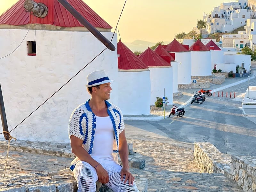
M40 2L48 7L44 18L26 12L24 0L0 16L0 81L9 131L106 48L57 0ZM106 21L84 2L68 2L106 38L114 35L116 47L116 34ZM116 56L116 50L105 50L14 129L12 137L70 142L69 117L79 104L90 98L84 86L86 76L94 70L105 69L110 79L117 80ZM118 81L111 86L110 102L116 104Z

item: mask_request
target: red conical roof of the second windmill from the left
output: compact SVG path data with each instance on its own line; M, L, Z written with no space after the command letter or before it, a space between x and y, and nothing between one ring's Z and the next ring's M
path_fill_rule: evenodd
M118 69L148 69L148 66L143 63L128 47L119 40L117 43Z

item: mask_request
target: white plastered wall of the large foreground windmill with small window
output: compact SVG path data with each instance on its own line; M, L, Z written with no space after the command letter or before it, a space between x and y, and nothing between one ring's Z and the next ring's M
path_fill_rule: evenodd
M0 57L10 54L28 30L0 29ZM109 40L111 32L102 32ZM27 41L36 39L36 56L27 55ZM116 34L113 44L116 47ZM3 46L4 45L4 46ZM0 81L9 130L41 105L105 46L90 32L30 30L19 48L0 59ZM90 98L86 76L105 69L117 80L117 51L105 50L42 107L12 131L19 140L69 142L68 121L72 111ZM110 102L117 104L118 81L111 83ZM1 125L2 127L2 125Z

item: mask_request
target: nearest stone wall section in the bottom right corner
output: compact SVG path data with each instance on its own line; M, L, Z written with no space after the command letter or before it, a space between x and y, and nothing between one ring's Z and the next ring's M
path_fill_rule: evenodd
M244 191L256 191L256 157L231 156L230 173Z

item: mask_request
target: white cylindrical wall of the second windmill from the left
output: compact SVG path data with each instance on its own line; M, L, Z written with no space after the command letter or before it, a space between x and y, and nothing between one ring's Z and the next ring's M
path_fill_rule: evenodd
M150 71L118 72L118 107L123 115L150 114Z

